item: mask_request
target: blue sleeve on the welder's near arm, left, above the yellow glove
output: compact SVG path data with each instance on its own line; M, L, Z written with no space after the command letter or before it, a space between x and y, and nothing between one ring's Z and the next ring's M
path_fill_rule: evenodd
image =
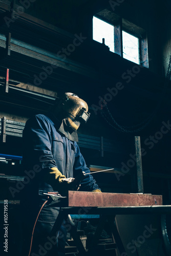
M56 167L51 152L50 127L42 116L34 116L26 122L23 132L23 164L25 168Z

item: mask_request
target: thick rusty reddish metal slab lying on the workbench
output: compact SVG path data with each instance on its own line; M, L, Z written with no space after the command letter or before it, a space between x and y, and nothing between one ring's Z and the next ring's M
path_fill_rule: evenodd
M111 207L162 205L161 195L69 191L69 207Z

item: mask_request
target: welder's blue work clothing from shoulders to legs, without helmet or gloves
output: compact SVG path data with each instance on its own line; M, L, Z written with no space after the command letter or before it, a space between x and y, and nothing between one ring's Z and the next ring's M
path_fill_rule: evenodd
M81 172L90 173L80 153L79 146L75 141L69 140L59 132L59 126L60 123L53 115L39 114L26 122L23 131L23 166L25 174L30 175L30 181L21 191L20 203L24 212L25 251L28 250L30 244L28 241L30 241L30 234L38 211L46 200L43 193L54 191L55 177L49 174L50 169L57 167L66 178L75 178ZM46 173L49 174L48 183L45 180ZM86 175L81 181L80 190L92 191L95 189L99 189L96 181L91 175ZM44 253L55 256L65 255L64 247L67 233L65 225L61 226L60 236L57 236L56 243L53 242L54 238L49 237L59 211L59 207L42 208L35 226L30 255L36 256Z

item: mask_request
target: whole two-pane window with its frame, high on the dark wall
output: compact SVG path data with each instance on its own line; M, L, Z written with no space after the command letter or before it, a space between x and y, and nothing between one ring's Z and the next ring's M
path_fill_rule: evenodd
M106 17L104 19L106 20ZM125 19L116 18L110 24L102 17L94 16L93 39L101 43L104 40L104 44L110 48L111 52L148 68L145 31Z

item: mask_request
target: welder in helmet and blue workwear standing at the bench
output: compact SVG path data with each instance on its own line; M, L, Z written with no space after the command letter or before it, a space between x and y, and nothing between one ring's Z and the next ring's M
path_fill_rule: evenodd
M20 205L24 217L22 255L65 255L65 222L60 226L60 236L56 236L56 241L50 237L60 208L43 207L38 216L47 199L46 194L55 191L67 196L68 190L74 189L101 192L92 175L85 175L77 186L72 182L82 172L90 173L77 144L77 129L81 123L87 122L89 116L88 104L84 100L73 93L65 93L56 99L47 115L38 114L26 122L23 166L33 178L21 191Z

